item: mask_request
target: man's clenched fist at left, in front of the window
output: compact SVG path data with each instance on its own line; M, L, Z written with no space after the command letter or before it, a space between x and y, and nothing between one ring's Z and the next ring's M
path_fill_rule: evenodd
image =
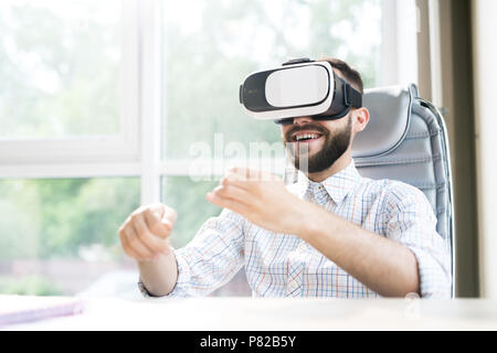
M141 206L119 228L123 249L137 261L169 255L169 235L176 222L175 210L162 204Z

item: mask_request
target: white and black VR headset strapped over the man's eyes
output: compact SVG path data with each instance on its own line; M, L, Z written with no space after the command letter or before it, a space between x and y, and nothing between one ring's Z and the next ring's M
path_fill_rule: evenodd
M339 77L328 62L296 58L282 67L248 75L240 86L245 113L289 125L296 117L336 120L362 106L362 95Z

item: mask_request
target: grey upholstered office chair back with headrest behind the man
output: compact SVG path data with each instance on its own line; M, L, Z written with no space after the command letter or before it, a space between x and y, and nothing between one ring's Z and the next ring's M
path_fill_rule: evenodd
M415 85L368 89L363 105L370 121L352 145L356 165L362 176L399 180L424 192L451 249L454 297L452 172L443 117L419 97Z

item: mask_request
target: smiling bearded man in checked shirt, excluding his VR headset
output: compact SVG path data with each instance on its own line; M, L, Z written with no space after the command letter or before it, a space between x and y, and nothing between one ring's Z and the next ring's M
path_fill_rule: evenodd
M362 93L357 71L325 60ZM296 117L283 125L285 143L308 149L307 178L285 186L274 175L232 169L207 195L224 210L181 249L168 243L173 210L157 204L135 211L119 237L137 260L144 293L208 295L245 266L261 297L450 298L451 257L424 194L361 178L355 167L353 138L368 121L361 107L337 120Z

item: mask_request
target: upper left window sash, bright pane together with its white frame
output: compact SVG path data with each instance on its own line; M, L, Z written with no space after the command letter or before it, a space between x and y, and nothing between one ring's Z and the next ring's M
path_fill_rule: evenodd
M3 165L136 159L135 13L120 0L1 2Z

